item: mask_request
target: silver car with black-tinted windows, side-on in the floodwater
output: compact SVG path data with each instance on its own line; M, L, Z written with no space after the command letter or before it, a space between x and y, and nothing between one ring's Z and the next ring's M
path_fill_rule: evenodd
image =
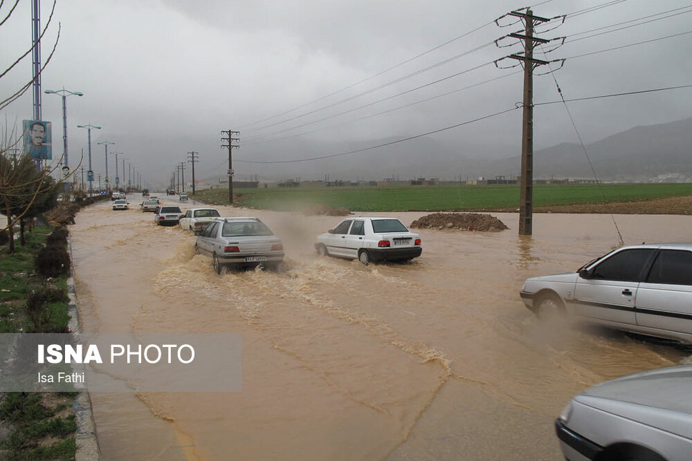
M520 296L539 317L567 312L618 330L692 343L692 243L621 247L576 272L527 279Z

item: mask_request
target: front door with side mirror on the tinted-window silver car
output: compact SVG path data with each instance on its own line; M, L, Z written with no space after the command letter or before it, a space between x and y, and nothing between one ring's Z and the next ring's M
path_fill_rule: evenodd
M637 288L655 249L632 248L606 256L574 287L574 314L603 323L635 325Z

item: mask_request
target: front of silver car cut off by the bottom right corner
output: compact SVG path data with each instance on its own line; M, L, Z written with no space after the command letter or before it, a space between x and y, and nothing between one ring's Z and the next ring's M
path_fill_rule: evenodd
M597 384L555 421L569 461L692 459L692 366L646 371Z

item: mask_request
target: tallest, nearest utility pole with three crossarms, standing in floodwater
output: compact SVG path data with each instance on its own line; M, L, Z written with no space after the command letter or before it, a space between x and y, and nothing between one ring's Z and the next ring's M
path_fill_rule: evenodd
M524 67L519 235L531 235L534 214L534 68L549 64L547 61L534 59L534 45L550 41L534 37L534 26L550 19L534 16L531 9L527 9L526 12L512 11L508 16L518 17L525 24L525 35L508 35L524 43L524 52L507 57L520 61Z

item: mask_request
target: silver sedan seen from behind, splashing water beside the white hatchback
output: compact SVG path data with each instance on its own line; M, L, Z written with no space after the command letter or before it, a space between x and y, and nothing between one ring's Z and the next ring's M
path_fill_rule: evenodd
M194 251L210 254L217 274L224 265L278 267L284 260L281 240L257 218L215 218L194 234Z

